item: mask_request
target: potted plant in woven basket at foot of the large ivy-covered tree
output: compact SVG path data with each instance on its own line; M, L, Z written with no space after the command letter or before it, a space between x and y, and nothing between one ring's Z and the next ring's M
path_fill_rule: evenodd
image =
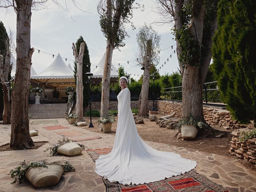
M181 119L177 124L177 128L180 130L182 138L186 140L196 138L198 129L203 128L204 126L206 126L204 122L196 121L192 117Z

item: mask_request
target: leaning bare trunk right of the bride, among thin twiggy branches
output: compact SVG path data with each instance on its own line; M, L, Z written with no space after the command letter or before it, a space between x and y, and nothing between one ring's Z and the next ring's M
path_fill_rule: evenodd
M147 51L144 56L145 70L143 72L142 88L139 96L139 112L138 116L148 118L148 88L150 80L150 68L151 68L151 49L152 40L147 41Z

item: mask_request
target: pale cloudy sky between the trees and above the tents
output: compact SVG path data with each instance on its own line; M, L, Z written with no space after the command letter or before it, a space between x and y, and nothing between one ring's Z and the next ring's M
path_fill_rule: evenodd
M59 2L64 1L60 0ZM35 48L32 55L32 66L37 73L44 71L52 64L55 59L55 57L52 58L53 54L56 56L60 53L67 65L69 63L73 65L72 42L75 43L81 35L88 46L91 70L96 68L106 51L106 38L100 29L100 15L97 12L98 0L77 0L78 7L81 10L75 7L71 0L66 0L66 2L69 11L63 10L51 0L46 3L47 9L32 10L31 47ZM160 74L171 74L177 71L178 59L177 55L174 54L176 41L173 40L171 34L172 26L170 24L154 24L161 21L161 18L154 11L157 5L153 0L135 0L135 2L144 4L144 11L142 12L141 9L133 10L132 22L136 29L132 30L130 25L126 25L126 31L130 37L126 37L124 40L126 46L120 48L120 51L114 50L112 64L118 68L120 63L124 66L124 70L128 74L132 74L131 77L135 79L143 74L143 71L140 70L141 66L137 66L135 62L138 50L136 34L140 27L146 23L152 24L154 30L161 36L160 63L157 66ZM62 5L66 6L65 4ZM4 23L8 34L10 30L12 31L15 40L16 13L13 8L0 8L0 20ZM173 49L170 46L173 46ZM40 50L40 53L38 53L38 50ZM171 58L170 55L172 55ZM16 57L15 54L14 57ZM65 58L67 58L67 61L65 61Z

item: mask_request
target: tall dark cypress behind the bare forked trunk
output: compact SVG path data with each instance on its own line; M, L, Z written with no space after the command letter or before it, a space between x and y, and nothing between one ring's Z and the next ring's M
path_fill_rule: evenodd
M84 44L85 44L85 46L84 46L84 57L83 57L83 85L84 85L83 108L86 108L88 106L88 100L89 100L89 84L88 84L88 78L86 76L86 73L90 72L91 62L90 62L90 56L89 56L89 50L88 50L87 44L84 41L84 38L82 36L80 36L80 38L76 41L77 53L79 54L80 44L82 42L84 42ZM74 62L74 77L75 77L75 81L76 81L76 62Z

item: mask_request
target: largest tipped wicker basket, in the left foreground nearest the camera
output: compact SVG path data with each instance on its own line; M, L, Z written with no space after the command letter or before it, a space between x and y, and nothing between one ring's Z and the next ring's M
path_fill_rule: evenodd
M45 167L30 167L26 172L26 178L36 188L53 186L60 181L64 169L60 164L47 164Z

